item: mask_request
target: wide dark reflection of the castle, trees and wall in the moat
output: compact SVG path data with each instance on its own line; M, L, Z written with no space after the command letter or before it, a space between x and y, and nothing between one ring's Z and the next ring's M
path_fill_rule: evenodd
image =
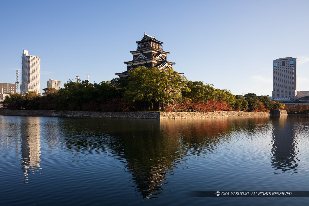
M156 198L189 156L213 155L232 134L265 130L269 117L188 120L63 119L60 142L70 155L107 153L120 160L142 198ZM241 135L243 136L243 135ZM224 147L224 146L223 146ZM77 160L76 160L77 159Z

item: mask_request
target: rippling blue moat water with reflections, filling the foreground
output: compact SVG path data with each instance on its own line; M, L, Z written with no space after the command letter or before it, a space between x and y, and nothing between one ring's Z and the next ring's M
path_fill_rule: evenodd
M185 120L0 116L0 205L307 205L309 118Z

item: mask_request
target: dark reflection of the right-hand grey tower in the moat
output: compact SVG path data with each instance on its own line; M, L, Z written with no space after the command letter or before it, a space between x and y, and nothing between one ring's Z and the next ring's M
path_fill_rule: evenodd
M271 165L275 174L297 173L298 148L295 138L295 122L289 121L287 116L273 117L273 138Z

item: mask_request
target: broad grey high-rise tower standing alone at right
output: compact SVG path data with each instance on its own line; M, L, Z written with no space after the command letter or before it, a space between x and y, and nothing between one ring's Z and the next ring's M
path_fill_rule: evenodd
M296 100L296 58L285 57L273 61L273 100Z

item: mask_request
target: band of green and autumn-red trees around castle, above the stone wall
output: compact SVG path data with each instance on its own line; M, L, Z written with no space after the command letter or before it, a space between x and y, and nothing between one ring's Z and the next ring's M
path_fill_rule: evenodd
M45 88L42 96L29 92L14 94L1 102L9 109L69 111L267 111L283 104L254 93L233 95L202 81L187 81L173 69L138 67L129 71L129 80L114 78L90 83L69 79L60 90ZM295 108L287 107L290 111ZM300 107L297 107L300 108ZM299 109L307 111L303 107Z

